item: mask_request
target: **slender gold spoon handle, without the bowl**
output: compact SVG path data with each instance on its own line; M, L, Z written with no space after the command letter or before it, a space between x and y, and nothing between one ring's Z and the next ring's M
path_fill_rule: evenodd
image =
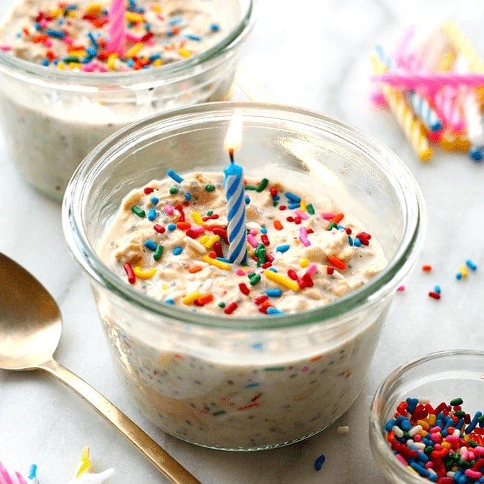
M151 460L170 481L176 484L201 484L185 467L160 447L145 431L140 429L133 420L115 407L107 398L104 398L90 384L84 382L71 370L66 369L55 360L50 360L40 366L39 370L50 373L57 380L65 383L80 395L86 402L90 403L97 413L100 413L108 422L118 429L133 445Z

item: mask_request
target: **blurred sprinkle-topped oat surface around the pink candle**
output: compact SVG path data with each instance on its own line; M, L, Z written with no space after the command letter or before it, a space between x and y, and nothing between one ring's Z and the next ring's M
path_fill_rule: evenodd
M221 40L214 0L129 0L124 53L109 44L108 0L24 0L3 18L1 50L36 64L77 71L159 67Z

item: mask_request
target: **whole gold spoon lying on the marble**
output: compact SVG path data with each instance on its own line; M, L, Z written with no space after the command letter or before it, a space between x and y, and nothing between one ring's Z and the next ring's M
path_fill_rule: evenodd
M54 360L62 333L59 306L32 274L1 253L0 269L0 369L50 373L90 403L172 482L200 484L120 409Z

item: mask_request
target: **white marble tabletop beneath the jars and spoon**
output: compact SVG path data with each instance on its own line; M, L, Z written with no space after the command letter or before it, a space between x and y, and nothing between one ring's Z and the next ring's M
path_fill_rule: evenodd
M0 0L1 6L1 0ZM295 10L297 8L297 10ZM338 424L305 442L269 452L236 454L201 449L162 434L131 406L115 378L88 283L66 247L60 209L24 187L1 151L0 251L35 274L62 309L64 334L57 359L79 373L165 446L203 483L382 483L367 437L371 395L395 366L445 348L484 348L482 271L465 281L454 273L467 257L484 263L484 166L439 152L429 165L413 156L387 113L368 102L368 53L414 21L428 25L452 16L484 52L482 0L259 0L257 26L242 65L272 98L322 111L378 136L418 178L427 201L428 232L407 291L396 295L378 344L369 381ZM8 277L2 274L0 277ZM427 291L440 283L443 298ZM398 331L406 338L395 337ZM337 425L349 425L346 436ZM71 478L82 446L90 445L99 470L113 466L110 482L165 482L145 458L87 407L46 375L0 371L0 459L26 472L39 465L44 484ZM313 469L326 454L320 472Z

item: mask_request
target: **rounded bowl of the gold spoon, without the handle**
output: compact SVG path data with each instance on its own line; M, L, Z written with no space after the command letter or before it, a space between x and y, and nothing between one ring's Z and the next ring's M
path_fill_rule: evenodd
M37 369L52 359L59 344L59 306L32 274L4 254L0 270L0 369Z

